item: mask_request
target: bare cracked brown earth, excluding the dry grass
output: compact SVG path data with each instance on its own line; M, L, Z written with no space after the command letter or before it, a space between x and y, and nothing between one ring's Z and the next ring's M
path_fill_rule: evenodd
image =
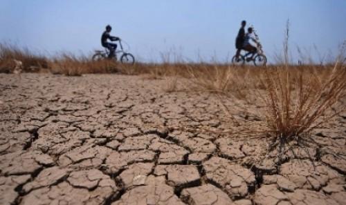
M346 115L276 166L261 116L138 76L0 75L0 204L346 204ZM231 133L220 133L224 131Z

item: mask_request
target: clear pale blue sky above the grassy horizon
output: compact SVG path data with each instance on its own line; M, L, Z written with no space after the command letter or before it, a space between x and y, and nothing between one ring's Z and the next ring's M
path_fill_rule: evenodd
M346 40L345 0L0 0L0 43L44 55L89 55L104 27L140 61L229 61L240 22L253 25L269 61L289 49L316 61ZM316 49L317 48L317 49Z

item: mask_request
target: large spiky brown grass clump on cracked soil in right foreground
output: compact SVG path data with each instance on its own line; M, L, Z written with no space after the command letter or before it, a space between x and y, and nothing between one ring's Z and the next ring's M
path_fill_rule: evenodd
M266 69L263 84L266 95L260 98L266 105L266 122L273 148L280 155L289 150L287 145L313 143L309 135L346 108L337 104L346 94L346 69L329 68L316 75L295 68ZM286 146L286 150L284 147Z

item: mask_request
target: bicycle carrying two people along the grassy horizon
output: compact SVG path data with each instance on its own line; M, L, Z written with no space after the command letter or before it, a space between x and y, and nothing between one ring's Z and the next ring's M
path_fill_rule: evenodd
M260 43L260 38L256 34L255 30L253 30L253 34L255 35L255 39L257 41L257 52L251 58L248 55L251 55L251 52L247 52L245 55L239 54L239 57L236 55L232 58L232 64L235 66L244 66L245 61L250 62L253 61L255 66L266 66L266 55L262 50L262 44ZM248 58L247 58L248 57Z

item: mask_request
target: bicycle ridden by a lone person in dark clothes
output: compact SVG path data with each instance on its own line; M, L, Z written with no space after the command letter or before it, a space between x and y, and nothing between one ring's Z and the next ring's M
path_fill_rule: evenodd
M125 52L124 48L122 47L121 40L119 39L119 46L120 50L116 50L114 53L114 56L112 59L115 59L117 61L117 55L121 55L120 62L122 64L134 64L134 55L131 55L129 52ZM100 59L108 59L109 56L109 50L107 48L104 48L104 50L95 50L95 54L93 55L92 59L93 61L98 61Z

